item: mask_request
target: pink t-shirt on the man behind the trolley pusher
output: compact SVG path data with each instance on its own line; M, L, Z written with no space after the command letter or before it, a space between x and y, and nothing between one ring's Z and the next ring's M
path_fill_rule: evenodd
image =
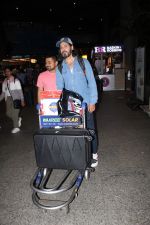
M56 87L56 73L51 73L48 70L40 73L37 80L37 87L43 91L55 91Z

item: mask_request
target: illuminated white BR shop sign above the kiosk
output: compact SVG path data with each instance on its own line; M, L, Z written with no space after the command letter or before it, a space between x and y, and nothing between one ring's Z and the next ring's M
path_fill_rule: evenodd
M122 47L119 45L114 46L97 46L94 47L95 53L110 53L110 52L122 52Z

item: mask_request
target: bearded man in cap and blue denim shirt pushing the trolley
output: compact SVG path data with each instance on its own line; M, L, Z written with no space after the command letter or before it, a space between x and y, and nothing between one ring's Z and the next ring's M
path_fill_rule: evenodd
M77 56L73 54L74 47L70 38L61 38L56 43L56 47L59 48L63 58L62 71L60 72L59 68L56 70L57 88L63 89L65 87L83 97L83 101L87 104L87 128L95 130L93 112L95 111L98 94L91 65L88 60L83 59L85 66L85 71L83 71ZM92 141L92 151L93 159L91 167L96 167L98 165L96 134Z

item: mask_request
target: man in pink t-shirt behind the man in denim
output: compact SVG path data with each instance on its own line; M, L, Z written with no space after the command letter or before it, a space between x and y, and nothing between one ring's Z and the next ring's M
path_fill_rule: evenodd
M38 103L40 103L41 91L55 91L56 88L56 66L57 59L55 56L47 56L45 59L46 71L42 72L38 76Z

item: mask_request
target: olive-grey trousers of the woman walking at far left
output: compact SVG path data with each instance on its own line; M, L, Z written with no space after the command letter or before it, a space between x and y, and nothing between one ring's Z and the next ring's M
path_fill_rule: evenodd
M13 127L18 127L18 115L20 109L14 109L12 97L7 97L6 101L6 115L12 119Z

